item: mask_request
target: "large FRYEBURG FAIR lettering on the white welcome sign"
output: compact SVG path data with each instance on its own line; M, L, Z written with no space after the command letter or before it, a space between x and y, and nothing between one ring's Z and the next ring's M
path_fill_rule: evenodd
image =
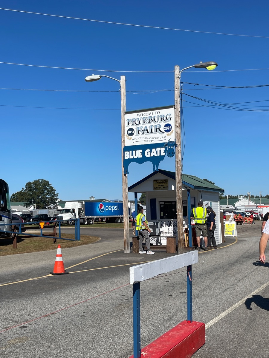
M152 134L152 133L165 133L161 129L163 123L171 121L171 113L159 114L160 111L152 111L145 113L137 113L137 118L127 119L126 126L135 126L136 135ZM146 126L143 126L147 124ZM149 125L148 125L149 124Z

